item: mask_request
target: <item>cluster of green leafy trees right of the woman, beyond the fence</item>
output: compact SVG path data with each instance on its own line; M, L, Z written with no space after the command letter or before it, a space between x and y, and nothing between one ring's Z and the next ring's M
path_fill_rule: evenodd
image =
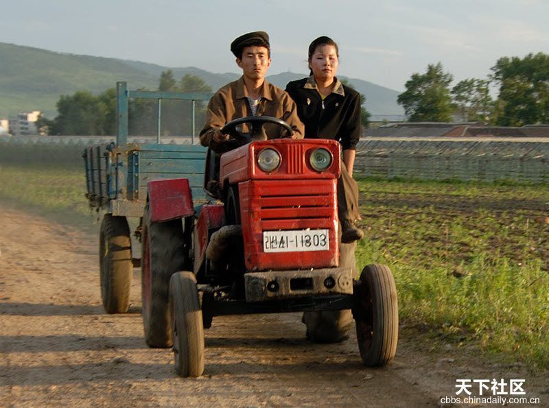
M549 55L502 57L487 79L468 78L450 88L453 75L441 62L414 73L398 96L408 120L476 121L487 125L523 126L549 123ZM498 96L490 95L491 86Z

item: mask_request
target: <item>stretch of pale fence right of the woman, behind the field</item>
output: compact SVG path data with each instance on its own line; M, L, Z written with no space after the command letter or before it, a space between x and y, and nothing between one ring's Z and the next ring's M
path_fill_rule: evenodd
M549 140L387 140L358 143L355 173L421 180L549 182Z

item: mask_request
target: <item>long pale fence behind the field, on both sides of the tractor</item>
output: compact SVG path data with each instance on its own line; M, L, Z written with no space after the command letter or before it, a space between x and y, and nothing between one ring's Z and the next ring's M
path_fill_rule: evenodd
M133 143L147 140L130 138ZM114 136L0 137L0 163L80 166L84 147L110 141L115 141ZM190 143L190 138L170 138L165 143ZM549 183L549 140L364 139L358 143L355 173L380 178Z

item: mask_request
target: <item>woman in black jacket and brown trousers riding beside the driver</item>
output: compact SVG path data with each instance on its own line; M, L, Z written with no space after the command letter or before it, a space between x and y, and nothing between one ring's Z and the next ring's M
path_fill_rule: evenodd
M355 226L359 218L358 184L353 180L356 144L362 133L360 95L336 77L339 66L338 45L327 36L309 45L310 76L289 82L286 92L297 105L299 119L305 124L305 139L335 139L343 151L338 180L338 215L343 243L364 237Z

